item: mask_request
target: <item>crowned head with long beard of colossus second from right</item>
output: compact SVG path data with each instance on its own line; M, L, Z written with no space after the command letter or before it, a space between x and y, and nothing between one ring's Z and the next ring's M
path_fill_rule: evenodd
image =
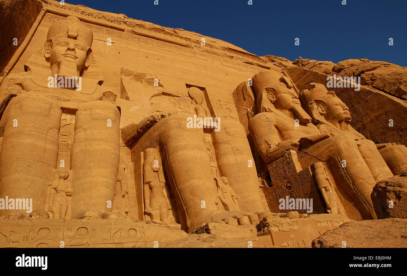
M300 119L300 122L306 124L311 122L301 107L298 94L294 90L291 80L282 72L274 70L260 72L253 76L252 83L260 112L272 109L292 111Z

